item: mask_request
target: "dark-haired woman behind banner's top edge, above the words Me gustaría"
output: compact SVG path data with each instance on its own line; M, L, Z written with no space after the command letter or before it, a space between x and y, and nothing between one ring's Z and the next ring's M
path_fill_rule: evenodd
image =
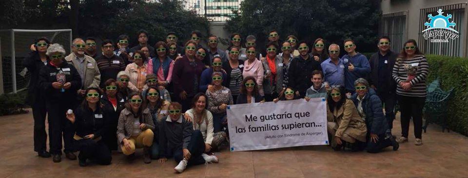
M257 83L253 76L247 76L240 86L240 94L237 97L236 104L263 102L263 97L258 92Z

